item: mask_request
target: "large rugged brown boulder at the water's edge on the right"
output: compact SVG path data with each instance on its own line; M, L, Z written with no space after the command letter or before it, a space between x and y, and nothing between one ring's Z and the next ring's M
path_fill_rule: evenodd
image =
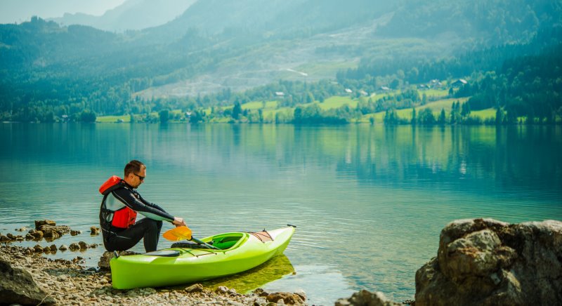
M449 223L416 273L416 305L562 305L562 222Z

